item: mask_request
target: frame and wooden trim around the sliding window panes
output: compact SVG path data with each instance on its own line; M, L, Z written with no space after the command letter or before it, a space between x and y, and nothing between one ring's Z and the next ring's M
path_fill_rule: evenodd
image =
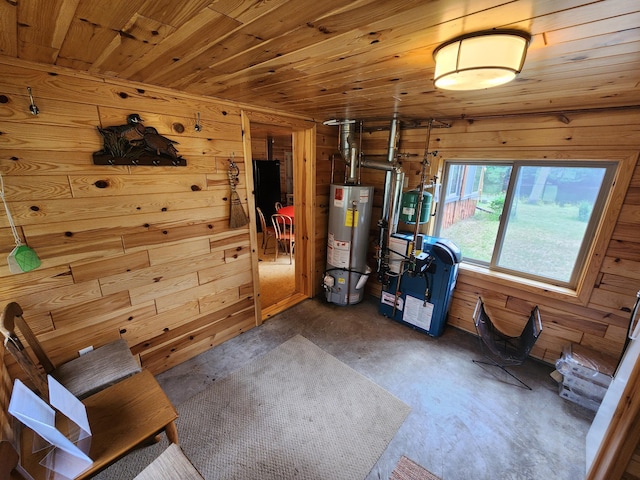
M514 270L502 268L496 265L496 259L498 258L501 247L494 249L491 262L489 263L483 261L469 262L468 260L465 261L464 258L461 263L461 270L468 271L473 275L489 275L495 279L504 279L509 283L516 282L519 284L531 286L536 290L542 289L545 292L557 292L562 296L569 295L571 297L584 298L585 295L588 295L593 289L593 285L589 286L588 279L593 278L595 280L595 276L597 275L597 269L595 269L595 265L597 264L597 268L599 268L604 257L604 252L601 255L598 255L597 258L594 258L593 254L600 249L606 250L605 242L608 242L611 238L613 227L615 226L615 224L611 224L611 221L608 221L608 217L612 215L612 212L619 211L619 209L621 208L624 198L624 192L621 191L621 188L625 186L624 191L626 192L626 186L628 186L628 182L630 181L631 174L633 172L633 166L635 165L635 157L610 158L610 156L605 156L604 158L574 158L572 156L566 156L559 160L515 157L491 159L488 157L489 155L475 159L457 157L449 157L445 159L441 157L442 163L440 165L440 171L442 173L442 185L443 188L446 188L448 181L447 174L449 172L448 166L452 164L511 166L512 170L509 178L507 196L505 197L505 208L502 212L503 216L509 214L509 210L511 208L510 205L513 203L515 190L514 184L518 178L518 170L520 168L528 166L583 166L606 168L600 188L607 188L608 191L604 194L602 193L602 191L600 191L598 194L597 200L592 210L589 224L587 225L587 228L583 235L583 242L576 258L574 271L569 282L555 281L553 279L547 279L540 276L528 275L524 272L516 272ZM433 227L435 236L439 235L441 229L441 223L443 219L442 212L443 209L437 209ZM617 213L615 214L614 218L616 217ZM496 244L498 243L498 241L504 241L504 229L506 228L506 225L506 222L503 222L502 220L500 221L499 231L496 235ZM589 241L589 239L591 240ZM589 287L588 292L587 289L584 288L585 286Z

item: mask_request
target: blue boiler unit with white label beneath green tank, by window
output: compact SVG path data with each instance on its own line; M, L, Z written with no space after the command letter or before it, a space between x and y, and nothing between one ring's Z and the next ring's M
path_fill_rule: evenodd
M415 248L414 255L411 255ZM442 335L462 259L445 238L394 233L379 311L423 333Z

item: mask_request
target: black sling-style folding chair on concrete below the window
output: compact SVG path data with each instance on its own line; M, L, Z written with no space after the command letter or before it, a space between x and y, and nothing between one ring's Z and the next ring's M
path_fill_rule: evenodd
M542 321L538 307L535 306L531 310L527 323L517 337L506 335L498 329L487 315L484 302L480 297L476 302L473 321L480 339L480 348L487 359L486 361L473 360L473 362L498 367L516 379L522 386L531 390L529 385L507 370L507 367L522 365L538 340L542 332Z

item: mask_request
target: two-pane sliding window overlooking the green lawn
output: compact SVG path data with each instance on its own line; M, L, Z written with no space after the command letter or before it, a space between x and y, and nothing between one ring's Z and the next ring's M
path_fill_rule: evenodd
M575 288L614 162L446 162L436 236L465 262Z

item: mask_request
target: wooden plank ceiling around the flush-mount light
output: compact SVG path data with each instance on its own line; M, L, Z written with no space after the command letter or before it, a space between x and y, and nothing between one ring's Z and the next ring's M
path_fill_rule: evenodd
M638 0L7 0L0 53L311 116L426 119L640 105ZM516 81L433 86L463 33L532 35Z

